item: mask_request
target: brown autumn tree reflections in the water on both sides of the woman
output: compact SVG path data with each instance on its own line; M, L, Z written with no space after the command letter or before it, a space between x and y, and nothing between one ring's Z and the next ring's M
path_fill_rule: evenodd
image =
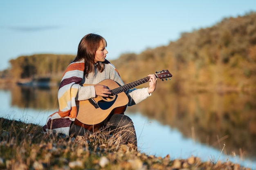
M56 110L57 91L58 87L39 89L16 86L11 90L11 106L37 111ZM139 105L128 107L127 112L139 112L150 120L157 120L168 128L177 129L183 137L193 139L195 143L213 146L218 150L225 144L226 155L255 159L255 99L256 95L239 93L166 94L159 88L153 97ZM43 123L49 114L46 113ZM152 133L151 135L156 135L159 131Z

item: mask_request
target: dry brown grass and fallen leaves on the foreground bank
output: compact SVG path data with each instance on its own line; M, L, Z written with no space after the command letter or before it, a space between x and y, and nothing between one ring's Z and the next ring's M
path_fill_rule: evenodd
M0 169L6 170L232 170L246 169L229 161L202 162L198 157L171 160L122 145L119 135L100 131L87 139L43 133L41 126L0 119Z

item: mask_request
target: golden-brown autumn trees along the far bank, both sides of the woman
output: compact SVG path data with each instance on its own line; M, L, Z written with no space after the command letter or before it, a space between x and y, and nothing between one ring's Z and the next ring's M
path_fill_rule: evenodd
M168 36L168 35L166 35ZM12 78L50 76L60 79L73 55L36 54L10 61ZM256 89L256 13L229 17L209 28L182 33L167 46L111 61L125 83L159 70L173 74L176 91L252 91ZM2 74L7 75L6 70ZM3 76L2 76L3 77ZM159 84L159 83L158 83Z

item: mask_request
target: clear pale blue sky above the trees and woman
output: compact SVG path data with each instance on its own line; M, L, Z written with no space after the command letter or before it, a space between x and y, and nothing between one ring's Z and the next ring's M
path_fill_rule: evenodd
M21 55L76 54L88 33L102 35L107 59L117 59L250 11L255 0L1 0L0 70Z

